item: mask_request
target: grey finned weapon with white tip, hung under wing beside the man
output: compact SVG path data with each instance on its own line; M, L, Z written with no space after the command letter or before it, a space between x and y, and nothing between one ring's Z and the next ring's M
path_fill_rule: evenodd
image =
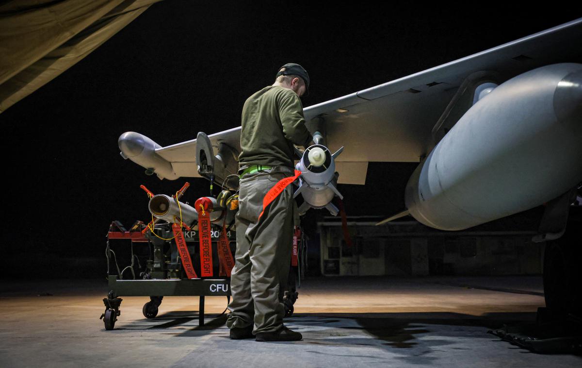
M339 210L333 206L331 200L336 195L343 199L336 188L338 174L335 172L335 159L342 153L343 147L332 154L327 147L320 144L323 137L319 132L314 134L313 141L315 144L304 151L295 167L302 174L299 177L299 189L293 197L297 197L299 193L303 196L303 204L299 207L300 214L306 213L309 208L327 208L335 216Z

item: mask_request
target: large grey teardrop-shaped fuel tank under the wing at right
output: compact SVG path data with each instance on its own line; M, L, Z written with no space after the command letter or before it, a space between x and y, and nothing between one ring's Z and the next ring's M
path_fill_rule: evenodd
M582 64L530 70L478 100L406 186L432 228L461 230L528 210L582 181Z

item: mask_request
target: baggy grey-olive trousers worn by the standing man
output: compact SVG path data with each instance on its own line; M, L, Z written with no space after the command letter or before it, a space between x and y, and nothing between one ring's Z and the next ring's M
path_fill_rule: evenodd
M235 267L230 274L232 302L229 328L247 327L253 334L274 332L283 324L283 286L287 282L293 247L293 186L267 206L261 220L262 199L275 184L291 176L278 168L246 174L240 180L236 215Z

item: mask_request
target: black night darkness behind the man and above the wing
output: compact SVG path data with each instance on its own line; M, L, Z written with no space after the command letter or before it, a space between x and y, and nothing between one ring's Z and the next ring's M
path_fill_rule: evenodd
M0 114L4 132L2 248L9 267L27 259L104 257L112 220L148 221L146 185L159 181L123 160L128 130L161 146L240 125L246 98L296 62L311 77L304 106L432 68L582 15L562 6L477 10L338 2L154 4L81 62ZM471 6L474 9L474 6ZM416 164L370 163L367 185L340 185L348 215L391 215ZM184 200L208 194L203 179ZM371 200L374 199L374 200ZM538 215L540 211L534 211ZM308 230L324 211L310 210ZM527 222L527 221L526 221ZM528 222L529 224L530 222ZM29 277L44 272L19 271ZM6 271L6 268L4 268ZM10 271L4 274L17 277Z

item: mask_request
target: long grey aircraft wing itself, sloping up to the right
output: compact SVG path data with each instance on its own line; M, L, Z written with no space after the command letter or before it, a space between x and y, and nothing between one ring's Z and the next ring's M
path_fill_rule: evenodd
M311 132L322 129L336 161L339 183L364 184L368 162L419 162L436 143L457 91L475 73L502 83L527 70L581 62L582 18L498 47L304 109ZM209 136L240 150L240 127ZM196 140L157 148L178 176L198 176Z

